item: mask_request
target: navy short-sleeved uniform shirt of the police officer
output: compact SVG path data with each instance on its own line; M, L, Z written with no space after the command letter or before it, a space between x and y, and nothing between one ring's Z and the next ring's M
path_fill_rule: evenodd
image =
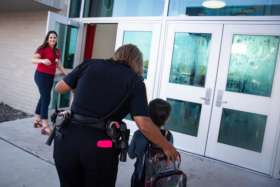
M71 110L74 114L101 118L111 112L131 89L138 75L130 68L107 60L88 59L63 78L76 89ZM145 83L140 79L125 103L112 115L122 120L130 113L133 116L150 117Z

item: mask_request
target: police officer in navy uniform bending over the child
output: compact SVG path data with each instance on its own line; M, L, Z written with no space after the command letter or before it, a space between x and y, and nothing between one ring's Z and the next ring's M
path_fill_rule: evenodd
M130 113L140 131L175 162L176 149L149 117L146 87L137 81L138 72L143 73L142 53L137 46L127 44L109 59L85 60L55 86L55 91L67 93L76 89L72 112L100 119L118 106L136 82L129 99L111 117L121 121ZM62 187L115 186L120 150L98 146L99 141L112 141L105 130L70 122L59 132L64 138L55 137L53 157Z

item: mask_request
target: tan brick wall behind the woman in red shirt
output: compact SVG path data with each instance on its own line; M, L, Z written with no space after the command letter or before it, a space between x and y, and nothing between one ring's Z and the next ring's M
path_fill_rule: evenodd
M64 10L53 11L66 16ZM40 97L34 81L34 52L43 43L48 11L0 13L0 101L34 114Z

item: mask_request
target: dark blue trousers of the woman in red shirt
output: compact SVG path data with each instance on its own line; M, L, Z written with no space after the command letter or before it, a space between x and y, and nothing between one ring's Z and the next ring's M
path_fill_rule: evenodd
M41 120L48 119L48 107L50 105L50 92L53 88L55 75L35 71L34 80L40 92L40 98L35 110L35 114L41 115Z

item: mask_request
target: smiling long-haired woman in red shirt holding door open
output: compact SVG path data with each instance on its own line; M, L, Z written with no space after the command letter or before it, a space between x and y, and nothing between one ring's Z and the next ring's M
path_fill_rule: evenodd
M57 33L48 32L43 44L38 47L31 63L38 64L35 71L34 80L40 92L35 114L34 128L42 127L41 134L48 134L52 131L48 125L48 106L50 104L50 92L53 88L56 67L64 74L68 73L64 69L60 60L60 52L57 46ZM40 123L40 121L42 121Z

